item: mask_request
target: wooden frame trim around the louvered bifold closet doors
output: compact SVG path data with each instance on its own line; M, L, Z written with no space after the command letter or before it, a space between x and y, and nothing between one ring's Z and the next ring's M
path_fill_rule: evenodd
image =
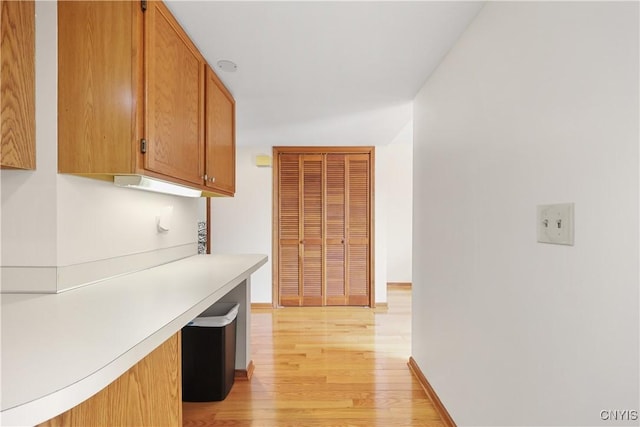
M278 209L280 177L279 155L281 153L291 154L368 154L369 155L369 307L375 308L376 281L375 281L375 147L373 146L348 146L348 147L273 147L273 174L272 174L272 234L271 234L271 272L272 272L272 305L279 307L280 289L279 283L279 251L278 236L280 212Z

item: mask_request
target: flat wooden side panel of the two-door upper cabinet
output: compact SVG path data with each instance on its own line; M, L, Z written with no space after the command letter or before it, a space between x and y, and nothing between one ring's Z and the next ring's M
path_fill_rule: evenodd
M58 2L58 170L136 171L142 137L142 10L133 2ZM133 53L133 54L132 54Z

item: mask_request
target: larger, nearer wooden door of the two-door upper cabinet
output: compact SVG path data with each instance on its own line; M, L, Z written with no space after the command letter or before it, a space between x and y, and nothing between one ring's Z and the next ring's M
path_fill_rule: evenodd
M145 12L147 170L202 185L204 59L161 2Z

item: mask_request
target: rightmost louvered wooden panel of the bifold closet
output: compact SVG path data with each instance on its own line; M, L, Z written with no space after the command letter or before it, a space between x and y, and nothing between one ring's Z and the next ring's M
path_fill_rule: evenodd
M369 304L369 156L351 154L346 159L346 265L349 305Z

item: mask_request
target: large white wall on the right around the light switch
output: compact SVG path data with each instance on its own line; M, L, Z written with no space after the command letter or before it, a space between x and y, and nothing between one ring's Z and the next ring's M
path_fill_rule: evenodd
M412 352L458 425L637 425L600 411L639 409L638 13L488 2L416 97Z

